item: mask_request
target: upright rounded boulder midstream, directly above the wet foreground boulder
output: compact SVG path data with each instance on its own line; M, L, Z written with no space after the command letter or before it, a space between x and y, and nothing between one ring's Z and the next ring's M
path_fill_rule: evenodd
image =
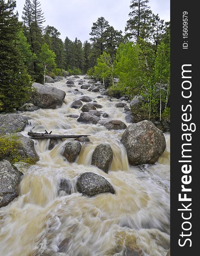
M92 165L108 173L112 160L113 151L110 145L100 144L96 146L92 156Z

